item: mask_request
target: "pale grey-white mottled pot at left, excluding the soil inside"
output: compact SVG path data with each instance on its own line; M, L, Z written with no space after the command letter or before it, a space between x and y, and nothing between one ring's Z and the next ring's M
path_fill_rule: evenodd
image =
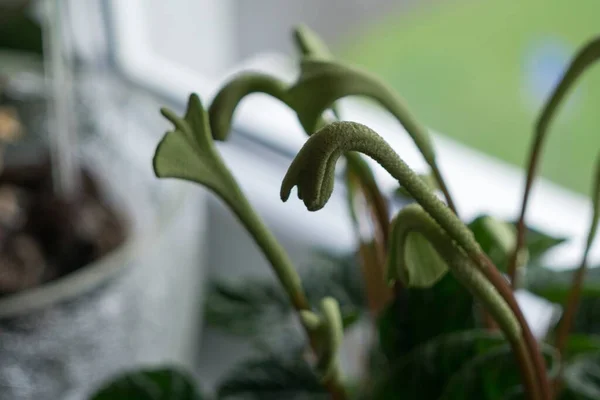
M147 137L144 123L154 124L151 132L158 135L160 116L141 119L135 106L158 109L151 98L97 73L78 79L77 114L86 119L78 153L125 216L128 234L103 258L0 298L2 400L81 399L119 370L155 363L193 367L195 361L203 195L154 177L153 146L147 144L156 139ZM32 142L9 149L7 163L11 155L19 160L39 149Z

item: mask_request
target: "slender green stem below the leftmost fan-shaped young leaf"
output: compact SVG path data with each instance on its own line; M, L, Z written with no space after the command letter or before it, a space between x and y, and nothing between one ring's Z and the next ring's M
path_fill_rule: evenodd
M290 301L298 314L298 318L308 336L313 352L318 354L319 341L316 332L307 327L300 317L302 311L311 311L306 294L302 289L298 289L302 287L300 277L279 241L267 228L262 218L256 214L239 189L238 192L239 196L237 200L235 202L228 202L228 205L242 225L244 225L246 230L250 233L250 236L262 250L269 263L273 266L279 282L287 292ZM334 371L334 373L331 374L331 377L323 382L323 385L331 395L332 400L347 399L346 390L340 382L340 374L338 371Z

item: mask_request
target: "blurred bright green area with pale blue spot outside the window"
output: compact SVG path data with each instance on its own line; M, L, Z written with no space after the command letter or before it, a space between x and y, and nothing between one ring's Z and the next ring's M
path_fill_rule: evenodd
M389 14L339 48L382 76L434 130L522 166L549 91L600 33L598 0L447 0ZM555 120L541 172L589 193L600 149L600 68Z

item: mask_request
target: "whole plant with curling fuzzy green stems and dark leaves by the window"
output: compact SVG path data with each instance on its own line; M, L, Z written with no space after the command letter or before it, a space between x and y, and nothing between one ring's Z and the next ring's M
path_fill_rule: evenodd
M594 336L598 331L583 312L597 312L590 305L598 297L592 284L597 271L588 275L589 285L584 276L600 211L600 165L593 179L588 240L575 270L557 273L537 265L540 254L561 239L527 229L525 217L552 117L581 73L600 58L600 39L575 55L542 110L516 223L490 216L463 222L437 166L428 131L402 99L376 77L333 60L307 28L298 28L295 39L303 58L300 76L291 85L272 76L244 73L227 83L207 108L192 94L183 116L162 110L174 128L157 147L156 175L210 189L250 232L278 278L279 290L248 282L235 289L221 285L217 288L221 300L213 296L209 301L226 298L229 305L237 303L237 310L253 311L251 317L264 311L261 305L287 303L303 333L303 340L294 340L299 336L286 331L278 341L276 330L281 324L255 319L260 325L256 341L262 346L262 358L234 368L217 398L598 398L600 347ZM237 105L255 92L288 105L309 136L283 178L283 201L296 188L309 211L326 206L338 160L345 159L344 177L357 231L359 213L367 214L373 226L372 237L361 241L360 267L334 263L330 270L338 271L337 275L317 268L320 279L301 276L224 165L214 141L227 139ZM387 108L410 134L431 174L413 172L401 154L369 127L341 121L336 101L350 95L370 97ZM392 218L387 197L359 153L376 160L398 181L397 195L411 199ZM350 296L345 296L352 285L339 278L344 270L362 281L364 298L354 300L358 303L354 310L348 307ZM317 290L319 284L325 289ZM556 328L534 336L516 300L518 288L562 303L564 313ZM252 289L270 297L252 304L249 300L260 297ZM209 303L211 307L213 316L227 314ZM364 373L349 379L342 373L339 356L344 335L357 320L356 312L364 310L373 321L376 340L369 344ZM222 325L244 330L235 318L244 320L247 315L228 316L234 320ZM121 376L93 398L146 398L151 391L172 399L203 396L185 373L156 369Z

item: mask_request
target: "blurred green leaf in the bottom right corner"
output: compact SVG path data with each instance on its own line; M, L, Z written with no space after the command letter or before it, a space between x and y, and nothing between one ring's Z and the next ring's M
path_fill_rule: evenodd
M600 399L600 352L578 357L563 374L561 399Z

